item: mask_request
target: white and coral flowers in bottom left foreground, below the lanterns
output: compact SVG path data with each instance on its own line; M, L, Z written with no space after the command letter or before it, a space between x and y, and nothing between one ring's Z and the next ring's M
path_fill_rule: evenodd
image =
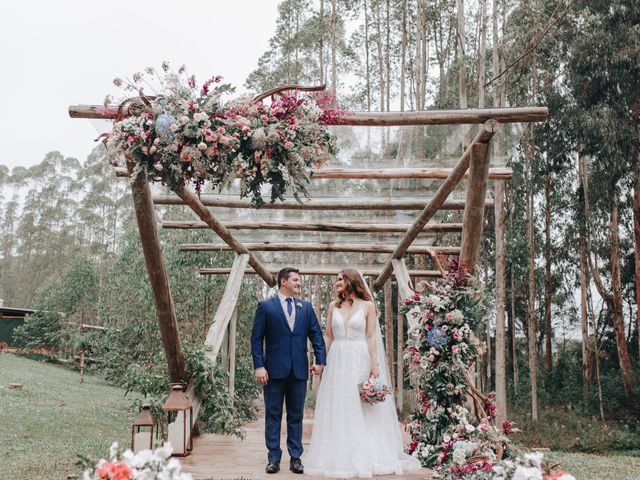
M82 474L82 480L191 480L190 473L182 473L180 462L169 458L170 443L156 450L133 453L122 452L115 442L109 449L109 460L100 460L95 468Z

